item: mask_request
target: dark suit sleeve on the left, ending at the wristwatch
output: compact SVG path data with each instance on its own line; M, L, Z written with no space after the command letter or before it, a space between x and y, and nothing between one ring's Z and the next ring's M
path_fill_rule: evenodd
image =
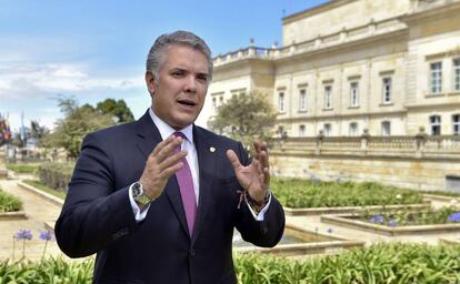
M138 227L128 187L113 189L111 155L101 141L94 133L84 139L56 223L57 242L70 257L97 253Z

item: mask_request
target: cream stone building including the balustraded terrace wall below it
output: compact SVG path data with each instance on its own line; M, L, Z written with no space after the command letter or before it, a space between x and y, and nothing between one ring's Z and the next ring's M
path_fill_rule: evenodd
M278 109L274 175L460 191L460 0L331 0L282 47L214 58L203 115L259 91Z

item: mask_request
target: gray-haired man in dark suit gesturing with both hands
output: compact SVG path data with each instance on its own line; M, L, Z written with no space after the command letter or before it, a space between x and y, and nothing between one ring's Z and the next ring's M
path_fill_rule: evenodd
M193 124L212 75L202 39L177 31L147 60L152 105L137 122L89 134L56 236L71 257L97 253L94 283L236 283L233 230L259 246L282 236L267 144Z

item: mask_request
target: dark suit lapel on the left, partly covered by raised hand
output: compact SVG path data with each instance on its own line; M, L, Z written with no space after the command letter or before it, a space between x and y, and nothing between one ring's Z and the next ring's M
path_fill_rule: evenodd
M161 134L158 131L157 125L154 125L152 119L150 118L149 111L139 119L138 121L138 148L146 156L146 161L149 158L150 153L153 151L154 146L162 141ZM166 195L168 196L171 205L176 212L176 215L186 232L189 235L189 230L187 226L186 213L183 211L182 199L180 196L178 181L176 175L171 176L164 189Z

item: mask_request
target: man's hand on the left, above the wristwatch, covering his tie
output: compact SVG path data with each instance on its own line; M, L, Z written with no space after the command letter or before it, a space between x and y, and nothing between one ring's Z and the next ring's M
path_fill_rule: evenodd
M161 141L150 153L149 159L147 159L140 183L149 199L159 197L164 190L168 179L183 166L180 160L187 155L187 151L174 153L174 150L181 143L182 138L171 135L167 140Z

